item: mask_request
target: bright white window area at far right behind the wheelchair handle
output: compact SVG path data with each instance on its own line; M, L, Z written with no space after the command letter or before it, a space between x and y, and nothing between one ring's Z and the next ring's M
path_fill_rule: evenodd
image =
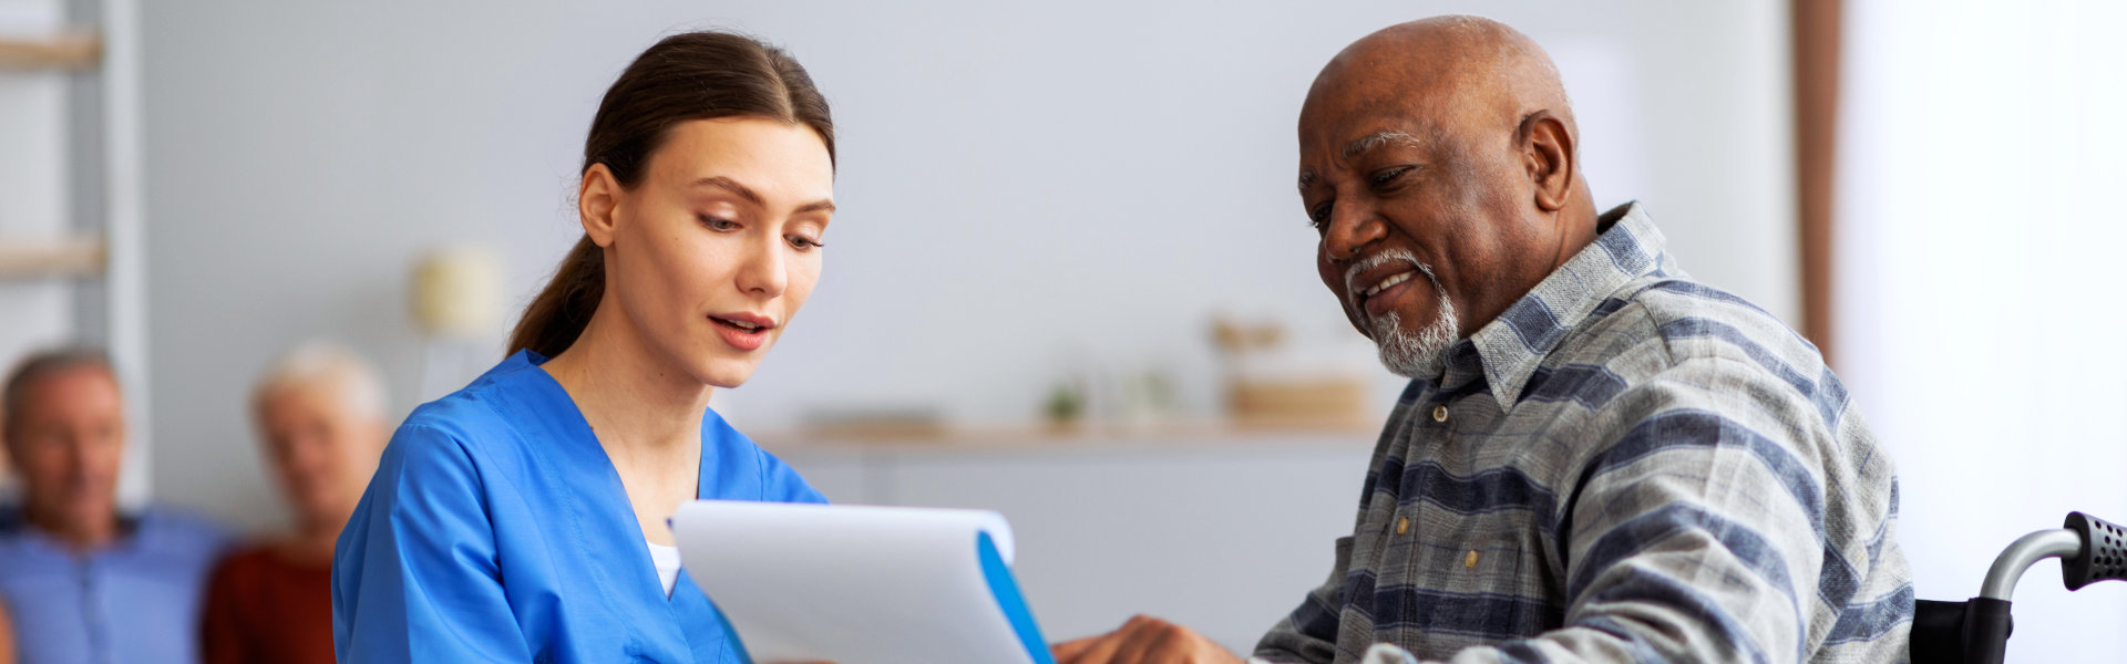
M1923 598L2067 511L2127 521L2118 2L1848 4L1840 372L1897 455ZM2127 583L2016 592L2010 662L2127 660Z

